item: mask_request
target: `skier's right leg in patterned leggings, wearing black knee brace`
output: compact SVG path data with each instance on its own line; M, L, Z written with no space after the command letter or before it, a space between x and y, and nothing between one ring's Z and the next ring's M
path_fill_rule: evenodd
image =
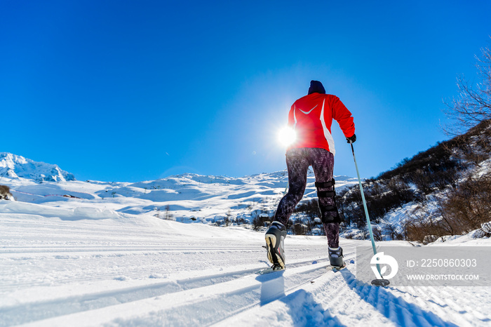
M328 237L330 248L339 247L339 213L335 202L335 181L332 178L334 169L334 155L328 150L310 149L311 165L316 175L318 204L321 210L321 220Z

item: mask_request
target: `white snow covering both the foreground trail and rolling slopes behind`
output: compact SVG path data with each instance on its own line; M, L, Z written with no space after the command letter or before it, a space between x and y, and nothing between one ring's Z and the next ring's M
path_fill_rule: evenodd
M325 236L289 235L287 269L255 274L269 267L264 232L203 222L229 209L236 217L274 210L286 178L4 176L18 201L0 201L0 326L490 326L489 286L378 288L356 279L356 246L369 241L341 239L349 264L332 272ZM156 217L166 206L177 221ZM182 223L193 215L198 223ZM490 245L471 235L431 244Z

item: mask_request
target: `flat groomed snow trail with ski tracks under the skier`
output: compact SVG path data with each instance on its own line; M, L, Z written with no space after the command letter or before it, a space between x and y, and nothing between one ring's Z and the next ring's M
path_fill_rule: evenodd
M262 233L153 217L0 213L0 326L489 326L489 288L377 288L326 269L323 237L288 236L267 267ZM362 241L342 239L345 260Z

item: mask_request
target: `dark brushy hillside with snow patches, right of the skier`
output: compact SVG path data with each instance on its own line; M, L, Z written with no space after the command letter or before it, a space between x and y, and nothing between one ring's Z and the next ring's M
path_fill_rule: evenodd
M491 222L491 121L406 158L364 184L374 234L429 242L476 232ZM339 194L347 227L368 235L358 186Z

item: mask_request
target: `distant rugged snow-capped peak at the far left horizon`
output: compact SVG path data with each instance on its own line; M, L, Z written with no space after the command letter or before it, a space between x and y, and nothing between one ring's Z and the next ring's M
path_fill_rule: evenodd
M26 159L23 156L0 152L0 178L26 178L36 182L66 182L75 180L72 173L58 165Z

